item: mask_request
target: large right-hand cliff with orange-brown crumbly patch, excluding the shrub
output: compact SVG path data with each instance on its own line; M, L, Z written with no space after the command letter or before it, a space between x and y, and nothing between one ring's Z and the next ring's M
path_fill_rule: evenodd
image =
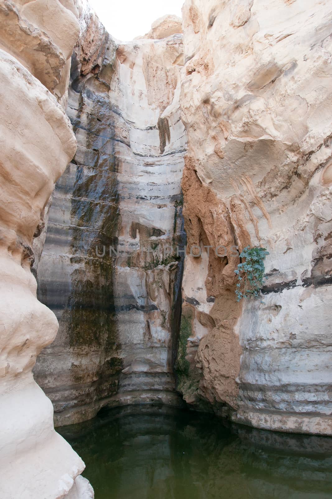
M183 14L184 217L202 255L185 260L179 388L240 423L331 434L331 4ZM263 302L235 301L234 245L269 251Z

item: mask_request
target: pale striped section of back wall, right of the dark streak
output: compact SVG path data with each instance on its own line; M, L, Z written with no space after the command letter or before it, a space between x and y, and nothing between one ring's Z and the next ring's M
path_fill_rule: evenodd
M182 36L120 46L120 95L130 148L119 144L119 255L115 310L124 402L178 404L174 352L184 248L180 120ZM126 82L131 81L131 85Z

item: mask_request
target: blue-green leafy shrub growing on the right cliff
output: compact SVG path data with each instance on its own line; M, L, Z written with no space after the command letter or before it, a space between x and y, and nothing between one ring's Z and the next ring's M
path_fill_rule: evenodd
M236 284L236 300L241 298L259 298L260 289L264 282L265 256L269 252L265 248L250 248L247 246L240 254L245 261L237 265L234 270L238 282Z

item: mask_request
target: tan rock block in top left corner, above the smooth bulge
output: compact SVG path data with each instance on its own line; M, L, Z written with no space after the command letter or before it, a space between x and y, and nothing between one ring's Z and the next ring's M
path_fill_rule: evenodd
M58 99L67 91L70 58L80 33L73 0L1 0L0 48Z

